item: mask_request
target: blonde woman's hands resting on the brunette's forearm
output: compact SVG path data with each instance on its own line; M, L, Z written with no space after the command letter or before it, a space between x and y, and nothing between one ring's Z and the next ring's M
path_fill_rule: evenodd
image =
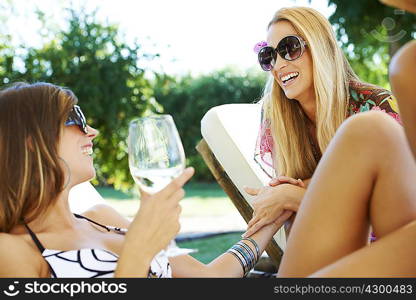
M252 235L266 224L282 223L297 212L305 193L304 184L300 180L281 177L271 182L274 186L245 188L248 194L257 197L252 202L253 218L248 223L244 236Z

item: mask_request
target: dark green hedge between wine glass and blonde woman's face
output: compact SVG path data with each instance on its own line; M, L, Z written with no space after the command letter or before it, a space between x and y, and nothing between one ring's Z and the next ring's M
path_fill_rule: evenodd
M184 144L188 164L196 168L194 180L208 181L213 177L197 153L201 137L201 119L214 106L227 103L252 103L259 100L265 73L238 72L231 69L210 74L174 78L158 75L155 98L164 112L171 114Z

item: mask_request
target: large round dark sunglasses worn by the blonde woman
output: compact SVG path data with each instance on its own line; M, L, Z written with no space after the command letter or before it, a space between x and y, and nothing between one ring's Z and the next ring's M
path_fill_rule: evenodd
M258 59L264 71L270 71L276 64L277 54L285 60L295 60L302 56L306 42L297 35L289 35L280 40L276 48L265 46L259 50Z

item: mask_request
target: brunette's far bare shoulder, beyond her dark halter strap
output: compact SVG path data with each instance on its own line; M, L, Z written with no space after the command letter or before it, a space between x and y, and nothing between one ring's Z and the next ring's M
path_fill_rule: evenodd
M98 223L116 227L127 228L130 221L113 207L106 204L97 204L83 213L84 216Z

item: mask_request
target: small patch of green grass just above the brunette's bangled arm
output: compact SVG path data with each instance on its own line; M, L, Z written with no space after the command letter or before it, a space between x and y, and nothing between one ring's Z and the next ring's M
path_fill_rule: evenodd
M191 241L177 242L177 245L182 248L198 249L198 252L191 253L190 255L203 263L210 263L239 240L241 240L241 233L227 233Z

